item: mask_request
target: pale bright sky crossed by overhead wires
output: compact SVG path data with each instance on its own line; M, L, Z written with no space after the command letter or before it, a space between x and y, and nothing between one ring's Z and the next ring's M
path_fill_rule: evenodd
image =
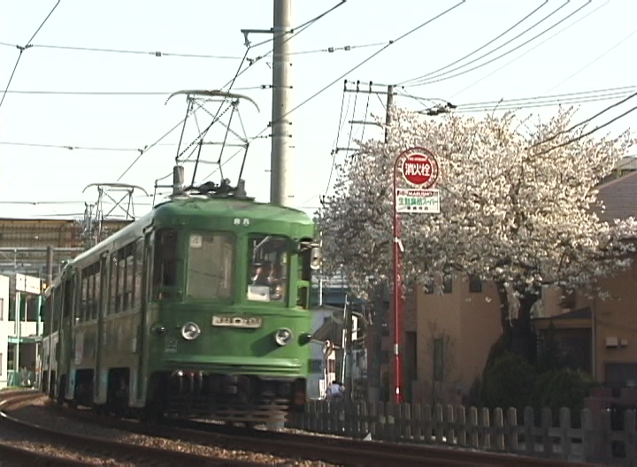
M339 3L293 0L292 24L301 26ZM250 141L242 176L248 194L268 201L272 62L265 55L272 34L249 34L246 54L241 30L272 27L272 1L60 0L28 42L56 4L0 0L0 93L20 56L16 45L32 45L21 54L9 93L0 94L0 218L77 218L85 203L97 200L95 187L82 190L116 181L144 188L148 196L134 193L135 213L149 211L156 180L172 171L181 126L141 157L138 149L157 142L187 110L185 96L167 97L182 89L222 88L240 65L244 72L233 90L253 99L259 111L242 101L229 126ZM288 116L295 207L311 213L319 196L329 194L333 162L347 157L344 150L333 157L334 147L380 136L377 127L349 121L382 116L386 96L345 93L343 80L359 80L362 89L372 81L380 91L399 85L395 103L413 110L448 101L457 112L480 117L502 99L500 111L519 107L519 115L549 118L561 102L575 103L577 118L587 119L637 91L636 16L633 0L347 0L289 41L298 106ZM253 65L242 63L244 54ZM78 92L85 94L68 94ZM188 119L186 145L218 108L207 103L211 114L197 111ZM230 113L221 121L227 124ZM627 128L637 128L637 111L600 134ZM221 142L225 134L218 123L204 141ZM232 133L227 141L241 143ZM237 149L226 148L220 157L224 176L233 181L242 164L242 152L230 159ZM219 160L219 145L204 145L201 159L197 181L218 167L211 163ZM193 168L185 163L187 181ZM219 181L219 171L210 180ZM165 191L159 188L156 199ZM104 202L104 210L111 205Z

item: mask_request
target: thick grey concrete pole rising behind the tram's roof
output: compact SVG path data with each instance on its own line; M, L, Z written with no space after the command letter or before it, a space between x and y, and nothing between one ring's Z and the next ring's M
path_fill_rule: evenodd
M272 153L270 157L270 203L291 206L294 200L292 159L292 64L290 38L292 0L274 1L274 50L272 54Z

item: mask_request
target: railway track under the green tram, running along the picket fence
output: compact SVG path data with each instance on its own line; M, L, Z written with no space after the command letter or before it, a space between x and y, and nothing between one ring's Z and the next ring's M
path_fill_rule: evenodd
M59 413L100 425L111 425L131 433L157 436L190 443L223 444L227 448L245 449L296 458L351 466L449 466L486 467L518 466L570 467L587 466L590 463L565 463L525 456L478 452L462 448L435 448L411 444L395 444L381 441L352 440L329 436L297 433L247 431L206 422L167 419L162 425L146 425L132 420L104 418L88 410L66 410L56 406Z

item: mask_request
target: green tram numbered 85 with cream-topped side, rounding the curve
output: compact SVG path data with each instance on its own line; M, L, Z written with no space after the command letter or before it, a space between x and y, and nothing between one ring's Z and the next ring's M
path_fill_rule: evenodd
M157 205L47 289L42 391L120 416L254 425L303 410L314 231L237 195Z

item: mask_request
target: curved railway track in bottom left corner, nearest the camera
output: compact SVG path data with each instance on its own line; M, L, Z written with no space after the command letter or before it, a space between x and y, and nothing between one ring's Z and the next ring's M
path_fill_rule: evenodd
M254 467L263 463L254 463L227 458L214 458L175 450L141 446L121 440L105 440L91 436L83 436L67 432L58 432L51 428L35 425L17 417L12 417L8 410L21 402L42 397L41 393L21 391L19 394L0 394L0 418L5 426L26 433L31 439L49 442L56 446L71 448L73 451L86 453L96 458L108 459L118 464L130 465L225 465L229 467ZM73 460L35 450L19 448L5 441L0 442L0 458L6 462L20 465L75 466L95 465L96 463Z

